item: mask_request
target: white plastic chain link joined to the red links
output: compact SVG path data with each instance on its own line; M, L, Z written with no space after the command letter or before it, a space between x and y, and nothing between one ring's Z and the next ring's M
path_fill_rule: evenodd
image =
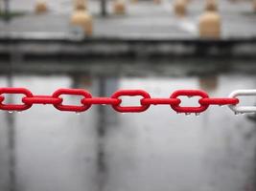
M229 97L237 98L237 96L256 96L256 90L237 90L232 92ZM238 106L228 105L235 114L256 113L256 106Z

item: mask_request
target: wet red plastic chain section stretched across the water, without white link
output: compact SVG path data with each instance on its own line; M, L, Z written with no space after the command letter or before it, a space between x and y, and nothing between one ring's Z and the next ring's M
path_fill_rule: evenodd
M24 95L20 104L3 103L5 95ZM82 96L80 105L63 104L66 96ZM122 106L121 96L142 96L139 106ZM198 107L180 106L179 96L200 96ZM34 96L25 88L0 88L0 110L23 111L31 108L34 104L52 104L60 111L84 112L91 105L111 105L113 109L121 113L140 113L148 110L151 105L170 105L177 113L202 113L210 105L236 105L238 98L232 97L209 97L207 93L200 90L178 90L169 98L153 97L143 90L120 90L111 97L92 97L91 94L82 89L58 89L52 96Z

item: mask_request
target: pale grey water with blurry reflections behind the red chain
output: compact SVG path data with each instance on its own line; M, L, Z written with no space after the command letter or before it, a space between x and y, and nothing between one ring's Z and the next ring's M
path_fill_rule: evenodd
M5 76L0 85L6 86ZM177 89L203 89L228 96L255 88L251 75L208 77L15 76L13 86L36 95L60 87L83 88L94 96L118 89L143 89L169 97ZM15 97L14 97L15 98ZM17 98L17 97L16 97ZM67 96L66 103L80 97ZM128 98L126 104L132 102ZM193 105L197 98L185 98ZM136 101L135 101L136 103ZM182 103L182 104L183 104ZM255 97L243 104L255 103ZM176 115L170 106L151 106L142 114L121 115L93 106L76 115L35 105L14 116L17 191L241 191L255 190L255 121L227 107L210 107L199 117ZM252 117L253 118L253 117ZM9 187L6 113L0 113L0 190Z

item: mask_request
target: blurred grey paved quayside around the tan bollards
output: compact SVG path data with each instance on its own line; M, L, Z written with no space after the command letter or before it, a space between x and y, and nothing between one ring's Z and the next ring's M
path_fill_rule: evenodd
M71 0L48 1L50 11L36 15L33 11L35 0L12 0L12 11L26 11L21 17L15 17L10 24L0 21L0 35L34 34L71 35L74 28L69 24L73 10ZM172 10L172 1L163 1L160 5L152 2L131 4L127 1L128 13L114 15L111 1L108 1L108 16L100 16L100 2L89 1L89 11L94 15L95 37L121 38L198 38L198 17L203 11L204 1L192 0L187 17L176 18ZM256 36L256 13L250 2L220 2L223 38L250 38Z

